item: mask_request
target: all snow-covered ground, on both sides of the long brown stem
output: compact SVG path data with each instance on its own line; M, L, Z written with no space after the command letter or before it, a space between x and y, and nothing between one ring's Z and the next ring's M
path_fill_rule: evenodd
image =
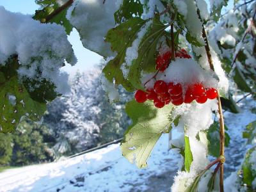
M225 112L230 134L226 149L227 175L236 170L245 152L242 131L256 119L252 99L239 104L241 113ZM120 144L55 163L26 166L0 173L0 191L170 191L179 156L168 151L168 134L157 142L148 168L139 170L120 151Z

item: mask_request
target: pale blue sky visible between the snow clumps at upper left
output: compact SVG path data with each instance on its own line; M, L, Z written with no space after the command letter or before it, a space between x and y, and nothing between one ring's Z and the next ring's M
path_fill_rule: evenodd
M35 10L39 8L35 3L35 0L0 0L0 6L4 6L6 10L11 12L20 12L24 14L34 14ZM77 70L88 70L102 60L102 57L99 56L99 54L83 47L76 29L73 29L70 36L68 36L68 40L73 45L78 60L77 64L73 67L70 65L63 67L63 70L68 73L74 74Z

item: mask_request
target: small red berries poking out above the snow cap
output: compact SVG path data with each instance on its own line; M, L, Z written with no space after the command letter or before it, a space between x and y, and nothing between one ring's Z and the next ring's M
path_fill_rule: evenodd
M180 51L175 52L175 58L187 58L190 59L191 56L185 49L180 49ZM172 59L172 52L167 51L164 54L157 56L156 58L156 69L163 72L169 66Z

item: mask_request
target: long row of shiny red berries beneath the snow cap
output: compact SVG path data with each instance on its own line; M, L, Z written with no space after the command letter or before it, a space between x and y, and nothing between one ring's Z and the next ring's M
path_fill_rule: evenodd
M163 108L164 105L172 102L173 105L179 106L182 103L191 103L196 100L198 103L205 103L207 99L215 99L218 93L214 88L204 88L201 83L195 83L188 86L186 93L183 95L180 83L166 83L164 81L156 81L154 88L148 89L147 92L137 90L134 98L137 102L145 102L146 100L154 100L156 108Z

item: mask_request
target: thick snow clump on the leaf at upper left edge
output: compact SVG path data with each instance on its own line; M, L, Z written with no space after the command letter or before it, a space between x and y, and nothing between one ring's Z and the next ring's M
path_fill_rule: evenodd
M67 91L67 74L60 73L60 68L65 61L74 65L76 57L63 27L41 24L30 15L0 6L0 65L13 54L18 56L20 77L47 79L57 92Z

